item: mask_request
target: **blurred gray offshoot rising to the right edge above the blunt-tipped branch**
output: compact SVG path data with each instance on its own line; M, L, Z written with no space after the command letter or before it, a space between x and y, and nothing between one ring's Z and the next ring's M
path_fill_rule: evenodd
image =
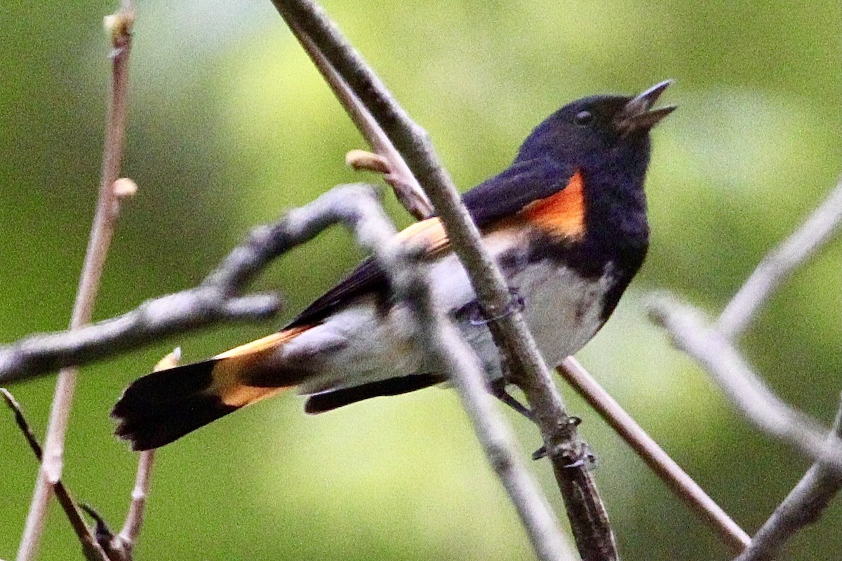
M719 316L717 329L720 333L727 337L742 333L765 299L796 267L831 240L840 224L842 179L801 227L763 258Z

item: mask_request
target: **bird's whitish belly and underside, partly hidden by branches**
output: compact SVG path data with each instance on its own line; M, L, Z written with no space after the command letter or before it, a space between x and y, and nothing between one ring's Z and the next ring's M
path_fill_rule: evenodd
M501 250L493 240L487 246L493 255ZM548 366L554 367L577 352L599 330L607 275L598 281L586 280L548 260L504 273L509 275L509 286L524 301L525 320ZM432 264L429 278L441 309L463 310L453 319L480 357L488 378L501 377L488 327L472 322L469 310L465 310L475 295L456 257L449 255ZM301 384L305 394L429 373L424 350L416 345L411 325L404 306L392 306L384 315L373 298L363 299L297 336L279 358L287 367L295 365L312 373L312 378Z

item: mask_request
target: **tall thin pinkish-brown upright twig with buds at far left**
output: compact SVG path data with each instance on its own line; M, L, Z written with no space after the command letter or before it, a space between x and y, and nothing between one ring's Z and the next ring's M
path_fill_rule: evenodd
M85 253L76 302L73 304L70 329L87 324L93 316L93 302L99 290L105 256L108 254L120 209L114 183L120 177L123 159L128 101L128 62L131 51L131 26L134 18L134 9L124 0L115 17L106 20L113 49L111 51L111 98L105 124L102 177L99 183L96 213L93 216L91 235L88 239L88 251ZM24 536L21 538L18 550L18 561L29 561L35 558L44 528L51 489L61 479L64 441L76 378L77 368L64 368L59 373L56 382L56 393L47 426L44 458L35 484L29 515L26 518Z

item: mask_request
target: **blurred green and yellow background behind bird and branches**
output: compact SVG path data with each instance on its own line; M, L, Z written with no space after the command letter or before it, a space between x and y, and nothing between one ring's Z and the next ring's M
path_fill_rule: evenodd
M336 183L359 181L365 147L268 0L139 2L131 63L125 205L97 318L187 288L249 226ZM505 167L546 114L591 93L677 80L647 190L652 249L616 315L579 354L616 399L747 531L807 468L754 431L705 373L647 323L655 288L721 310L759 258L839 173L838 2L594 0L372 3L329 13L426 127L456 182ZM113 3L3 4L0 16L0 341L67 325L93 214L109 80L101 27ZM366 177L367 178L367 177ZM390 198L399 224L408 218ZM840 388L839 241L802 268L743 337L793 405L829 422ZM305 257L306 255L306 257ZM354 266L332 230L258 288L288 302L271 325L173 337L84 368L66 482L120 527L136 461L109 410L176 345L199 359L271 331ZM42 433L55 377L14 384ZM564 389L600 458L597 479L623 558L723 559L711 532ZM308 417L293 394L232 415L157 457L143 559L530 559L513 508L456 394L429 389ZM508 415L508 413L507 413ZM3 416L5 418L3 418ZM36 465L0 416L0 558L13 558ZM525 455L536 431L510 416ZM562 511L546 463L533 473ZM786 558L839 558L842 508ZM80 558L51 510L41 559Z

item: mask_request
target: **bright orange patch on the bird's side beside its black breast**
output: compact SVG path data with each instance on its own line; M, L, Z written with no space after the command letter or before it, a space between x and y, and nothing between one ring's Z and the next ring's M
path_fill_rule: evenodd
M584 236L584 182L582 172L570 178L567 187L547 198L527 204L520 217L556 236Z

